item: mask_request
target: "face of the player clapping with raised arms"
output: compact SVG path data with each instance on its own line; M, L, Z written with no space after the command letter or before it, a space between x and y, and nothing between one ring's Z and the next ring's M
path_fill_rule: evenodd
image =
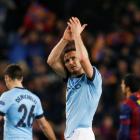
M76 51L70 51L64 55L64 64L71 74L81 74L81 64Z

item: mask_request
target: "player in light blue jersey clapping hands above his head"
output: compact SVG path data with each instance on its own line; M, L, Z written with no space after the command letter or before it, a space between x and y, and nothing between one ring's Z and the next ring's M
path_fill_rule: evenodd
M47 63L67 80L66 140L94 140L92 120L101 92L102 78L91 65L81 38L86 24L76 17L70 18L63 37L51 51ZM74 41L74 46L68 44Z

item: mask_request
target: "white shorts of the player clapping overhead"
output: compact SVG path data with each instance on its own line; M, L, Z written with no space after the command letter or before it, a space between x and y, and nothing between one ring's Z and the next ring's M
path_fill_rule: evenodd
M73 135L66 140L95 140L92 128L78 128L74 130Z

